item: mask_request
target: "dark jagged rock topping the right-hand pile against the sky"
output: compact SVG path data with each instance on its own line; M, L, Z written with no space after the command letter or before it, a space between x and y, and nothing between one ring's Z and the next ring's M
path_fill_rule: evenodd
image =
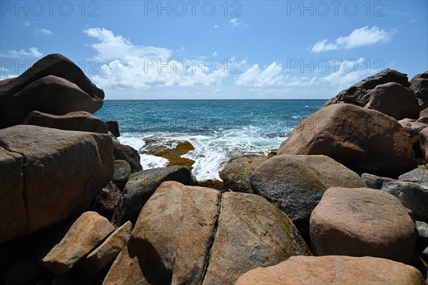
M324 107L337 103L365 106L370 100L370 94L367 94L367 91L374 89L374 87L380 84L389 82L396 82L404 87L409 87L410 84L408 80L407 74L402 74L394 69L384 69L378 74L362 79L362 81L350 86L350 88L340 91L337 96L327 101Z

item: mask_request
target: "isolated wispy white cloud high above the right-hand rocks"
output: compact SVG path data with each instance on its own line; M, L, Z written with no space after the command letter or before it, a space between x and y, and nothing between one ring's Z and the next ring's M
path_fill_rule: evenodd
M372 46L377 43L385 43L392 39L394 31L385 31L377 26L364 26L355 29L349 36L340 36L335 42L329 42L327 39L317 41L312 46L311 52L331 51L336 49L355 49L360 46Z

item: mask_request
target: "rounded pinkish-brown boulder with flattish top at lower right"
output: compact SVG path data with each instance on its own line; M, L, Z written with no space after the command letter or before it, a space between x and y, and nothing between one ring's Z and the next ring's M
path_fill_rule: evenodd
M335 187L325 191L312 211L310 238L320 256L374 256L409 263L417 231L408 210L391 194Z

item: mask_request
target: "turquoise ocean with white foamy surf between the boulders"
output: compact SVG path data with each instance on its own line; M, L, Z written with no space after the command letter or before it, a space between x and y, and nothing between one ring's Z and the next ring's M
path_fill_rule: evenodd
M168 164L146 154L148 146L174 147L189 141L198 181L220 180L229 159L243 154L268 154L287 139L303 119L326 100L106 100L96 116L116 120L121 144L141 154L143 169Z

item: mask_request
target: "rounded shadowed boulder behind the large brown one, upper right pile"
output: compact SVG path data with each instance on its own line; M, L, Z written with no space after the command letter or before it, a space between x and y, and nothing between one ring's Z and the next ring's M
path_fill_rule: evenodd
M419 106L412 89L396 82L380 84L367 91L370 97L365 108L376 110L400 120L404 118L417 119Z

